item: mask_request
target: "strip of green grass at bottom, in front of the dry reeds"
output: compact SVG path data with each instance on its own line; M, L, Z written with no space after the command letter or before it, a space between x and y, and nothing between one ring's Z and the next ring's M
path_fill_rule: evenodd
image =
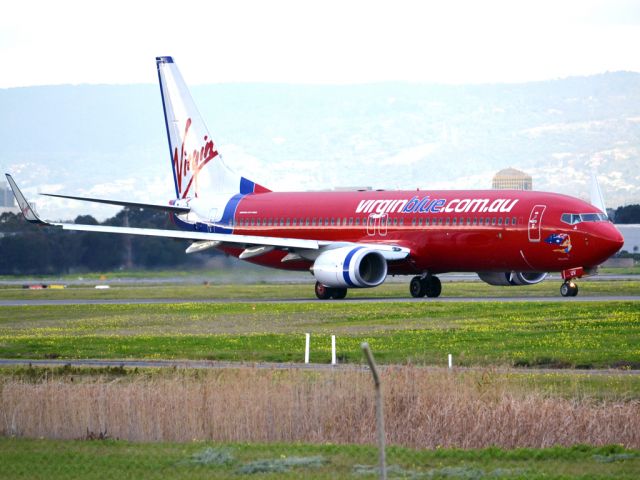
M130 443L0 438L0 478L378 478L365 445ZM283 466L298 465L284 469ZM387 449L389 478L636 479L620 446L504 450ZM243 473L254 472L254 473Z

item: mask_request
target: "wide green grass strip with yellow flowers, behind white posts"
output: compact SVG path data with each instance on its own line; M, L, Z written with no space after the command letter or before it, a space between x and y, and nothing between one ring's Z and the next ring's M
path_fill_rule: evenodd
M640 366L638 302L221 303L0 308L0 357Z

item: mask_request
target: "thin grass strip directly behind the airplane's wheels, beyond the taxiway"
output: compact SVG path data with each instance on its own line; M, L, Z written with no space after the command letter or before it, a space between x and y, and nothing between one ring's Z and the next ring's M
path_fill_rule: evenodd
M100 282L96 282L100 283ZM638 295L640 281L602 280L580 281L580 295ZM444 282L443 297L559 297L559 280L548 280L526 287L495 287L484 282ZM406 298L406 283L385 283L374 289L350 289L347 298ZM295 284L126 284L112 285L108 290L96 290L92 286L72 286L54 290L28 290L21 287L0 288L0 300L50 300L50 299L310 299L315 300L313 282ZM428 302L428 300L425 300Z

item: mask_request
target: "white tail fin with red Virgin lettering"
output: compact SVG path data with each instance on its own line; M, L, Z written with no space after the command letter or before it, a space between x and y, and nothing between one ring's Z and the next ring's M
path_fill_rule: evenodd
M224 163L173 58L157 57L156 65L176 197L270 191Z

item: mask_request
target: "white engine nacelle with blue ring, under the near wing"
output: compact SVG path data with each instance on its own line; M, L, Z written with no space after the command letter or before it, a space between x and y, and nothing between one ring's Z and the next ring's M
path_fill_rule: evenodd
M377 287L387 278L387 261L371 248L341 247L322 252L311 271L327 287Z

